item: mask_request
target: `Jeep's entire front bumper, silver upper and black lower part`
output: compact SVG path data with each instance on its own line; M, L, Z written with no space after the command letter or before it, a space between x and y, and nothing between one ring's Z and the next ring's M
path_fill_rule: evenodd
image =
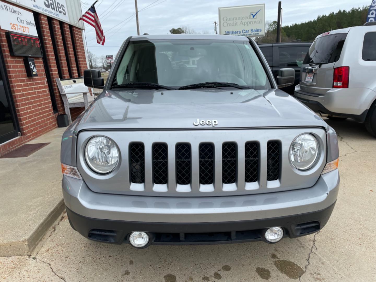
M102 232L105 240L98 240L120 244L127 241L129 232L145 231L150 232L152 244L204 244L263 240L262 232L272 226L283 227L285 236L291 238L315 232L331 215L339 182L338 170L334 170L310 188L223 197L94 193L83 180L67 176L63 176L62 188L70 223L86 238L101 237L102 231L91 236L92 229L109 230L107 235ZM296 224L313 221L318 226L297 233Z

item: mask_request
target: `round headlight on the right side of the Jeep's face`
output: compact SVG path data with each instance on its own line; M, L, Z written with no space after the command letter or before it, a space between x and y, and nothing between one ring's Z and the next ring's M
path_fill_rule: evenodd
M318 157L318 143L316 138L305 133L297 136L290 147L290 160L299 170L311 168Z

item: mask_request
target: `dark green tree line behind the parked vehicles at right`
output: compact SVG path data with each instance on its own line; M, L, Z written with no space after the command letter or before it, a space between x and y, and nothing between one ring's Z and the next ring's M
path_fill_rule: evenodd
M283 26L281 30L281 42L293 40L314 41L317 35L350 26L362 26L367 19L368 7L352 8L349 11L340 10L329 15L319 15L317 19L304 23L295 23ZM266 32L263 37L256 37L258 43L276 42L277 21L266 23Z

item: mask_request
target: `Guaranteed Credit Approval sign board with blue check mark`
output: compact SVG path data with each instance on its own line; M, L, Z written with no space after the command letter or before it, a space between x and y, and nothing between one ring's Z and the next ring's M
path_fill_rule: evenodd
M265 4L218 8L219 34L265 36Z

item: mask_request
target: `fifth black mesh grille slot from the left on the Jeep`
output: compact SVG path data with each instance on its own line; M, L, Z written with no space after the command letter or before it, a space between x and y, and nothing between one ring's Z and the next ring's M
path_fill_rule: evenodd
M235 183L237 171L236 145L225 143L222 145L222 182Z

